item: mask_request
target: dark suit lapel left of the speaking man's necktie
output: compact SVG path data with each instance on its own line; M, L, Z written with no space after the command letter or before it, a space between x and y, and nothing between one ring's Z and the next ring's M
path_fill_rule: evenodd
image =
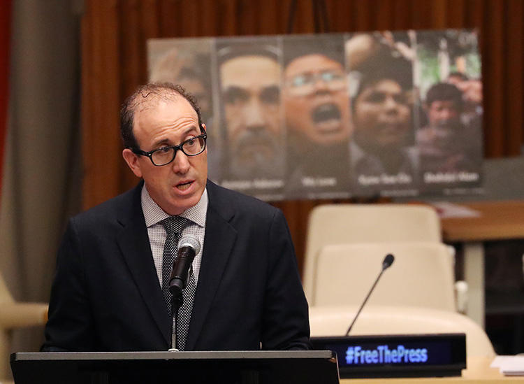
M166 344L170 345L171 324L162 297L162 290L154 267L149 236L145 227L140 192L143 183L133 190L133 201L129 206L122 207L119 221L123 225L122 231L117 235L117 243L131 276L144 300L145 306L150 311L154 322L161 332ZM131 208L131 213L129 209Z

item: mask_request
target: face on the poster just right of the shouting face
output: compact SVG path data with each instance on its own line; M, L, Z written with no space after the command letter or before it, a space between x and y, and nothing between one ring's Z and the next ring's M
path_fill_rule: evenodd
M411 129L407 95L394 80L384 79L358 94L354 105L355 135L368 150L398 148Z

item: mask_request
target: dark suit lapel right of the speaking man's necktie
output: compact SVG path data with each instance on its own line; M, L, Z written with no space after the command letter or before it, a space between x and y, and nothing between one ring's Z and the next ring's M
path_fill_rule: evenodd
M220 201L219 194L218 187L208 181L209 203L205 222L205 243L189 323L187 350L193 350L198 341L198 335L201 333L237 236L236 229L229 224L233 218L233 211L228 208L227 202Z

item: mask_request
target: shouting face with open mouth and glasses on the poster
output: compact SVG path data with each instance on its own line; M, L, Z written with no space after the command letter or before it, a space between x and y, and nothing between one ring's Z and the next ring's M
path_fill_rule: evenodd
M323 145L349 137L349 96L342 64L318 54L298 57L287 66L284 83L290 129Z

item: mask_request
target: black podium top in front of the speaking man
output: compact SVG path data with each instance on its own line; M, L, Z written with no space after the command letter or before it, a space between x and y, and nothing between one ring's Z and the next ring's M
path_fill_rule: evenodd
M338 384L330 350L13 353L15 384Z

